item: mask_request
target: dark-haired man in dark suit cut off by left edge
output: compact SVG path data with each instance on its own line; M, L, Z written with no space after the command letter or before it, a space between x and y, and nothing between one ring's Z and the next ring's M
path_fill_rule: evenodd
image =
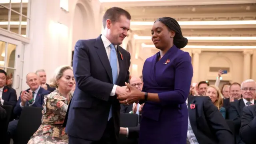
M16 90L6 86L7 74L0 69L0 102L4 105L15 106L17 103Z

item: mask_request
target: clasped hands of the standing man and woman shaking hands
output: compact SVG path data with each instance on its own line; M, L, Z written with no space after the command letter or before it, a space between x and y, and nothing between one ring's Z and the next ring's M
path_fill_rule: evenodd
M125 83L126 86L117 86L116 95L120 104L133 104L134 102L138 103L140 100L144 100L144 92L137 90L132 87L130 84Z

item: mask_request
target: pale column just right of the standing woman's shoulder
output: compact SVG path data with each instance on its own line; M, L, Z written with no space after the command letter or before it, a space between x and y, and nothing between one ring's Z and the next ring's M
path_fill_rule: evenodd
M199 59L201 50L192 50L193 54L193 78L192 82L199 82Z

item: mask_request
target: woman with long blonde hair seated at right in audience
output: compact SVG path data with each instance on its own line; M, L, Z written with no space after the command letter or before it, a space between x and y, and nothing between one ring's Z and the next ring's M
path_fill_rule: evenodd
M218 108L222 116L226 119L226 109L223 106L223 99L220 89L214 85L208 86L204 96L209 96L214 105Z

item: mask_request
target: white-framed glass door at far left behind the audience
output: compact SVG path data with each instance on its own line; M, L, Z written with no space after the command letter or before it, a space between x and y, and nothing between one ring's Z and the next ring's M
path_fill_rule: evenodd
M0 69L7 73L6 85L20 96L23 67L22 42L0 35Z

